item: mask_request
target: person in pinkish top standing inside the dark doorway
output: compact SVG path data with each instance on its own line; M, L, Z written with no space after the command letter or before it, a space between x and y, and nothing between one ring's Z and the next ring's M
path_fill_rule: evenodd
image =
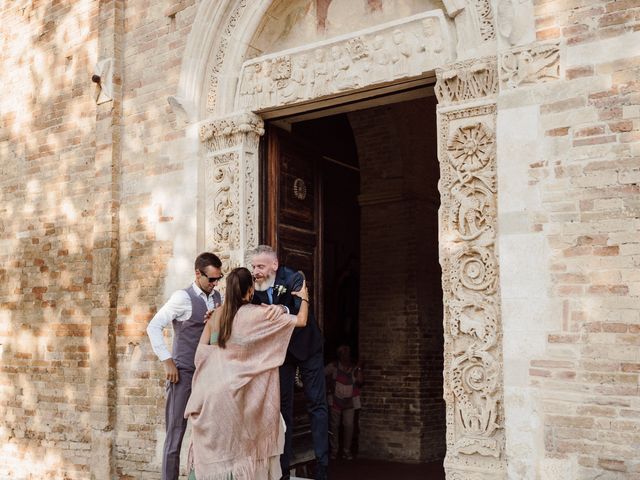
M342 452L345 460L351 460L351 443L355 411L360 408L360 388L364 382L362 368L351 362L351 350L347 345L338 347L338 360L325 367L327 391L331 407L331 458L338 457L340 424L342 423Z

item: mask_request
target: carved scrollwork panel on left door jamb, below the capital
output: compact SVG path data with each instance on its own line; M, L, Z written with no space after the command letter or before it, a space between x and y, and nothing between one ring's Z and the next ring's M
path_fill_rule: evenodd
M206 207L206 234L214 251L227 252L240 244L239 170L237 152L207 160L206 182L211 196Z

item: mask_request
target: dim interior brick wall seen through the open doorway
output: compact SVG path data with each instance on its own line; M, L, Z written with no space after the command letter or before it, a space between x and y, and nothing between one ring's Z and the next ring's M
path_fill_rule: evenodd
M433 99L349 114L361 169L360 450L444 456Z

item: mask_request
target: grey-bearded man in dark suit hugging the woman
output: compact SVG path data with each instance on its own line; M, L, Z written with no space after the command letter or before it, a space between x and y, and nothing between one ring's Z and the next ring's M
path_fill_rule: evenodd
M300 290L303 276L290 268L279 266L278 256L267 245L260 245L251 252L251 267L255 279L253 303L282 305L283 312L297 314L302 299L291 295L291 292ZM283 479L289 478L292 457L293 385L296 368L300 368L311 418L313 448L318 462L316 479L326 480L329 463L329 415L325 394L322 333L311 313L307 326L293 331L287 356L280 367L280 411L287 425L284 453L280 457Z

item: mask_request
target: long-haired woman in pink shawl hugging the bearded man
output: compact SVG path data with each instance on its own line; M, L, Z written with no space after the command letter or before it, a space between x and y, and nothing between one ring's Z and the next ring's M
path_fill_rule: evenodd
M252 305L246 268L227 277L226 298L207 322L196 351L196 371L185 417L191 420L190 479L278 480L284 447L278 367L295 327L307 324L306 283L298 315L271 318Z

